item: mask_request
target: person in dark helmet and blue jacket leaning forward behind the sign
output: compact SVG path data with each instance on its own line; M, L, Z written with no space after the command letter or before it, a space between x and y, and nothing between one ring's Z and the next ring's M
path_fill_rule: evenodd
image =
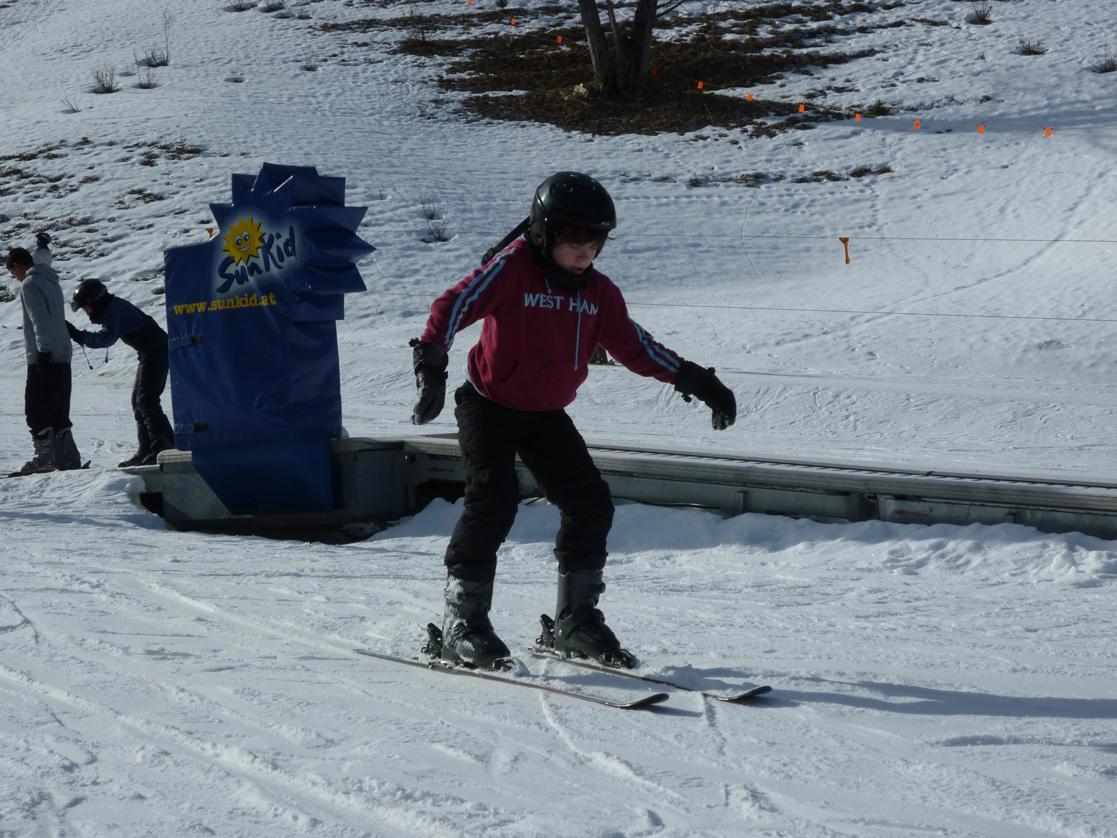
M75 343L102 349L120 340L140 356L132 388L132 412L136 419L140 450L120 466L155 465L160 451L174 447L174 431L160 404L169 369L166 332L132 303L109 294L99 279L85 279L77 286L70 310L76 312L78 308L92 323L99 325L101 331L84 332L67 321L66 328Z

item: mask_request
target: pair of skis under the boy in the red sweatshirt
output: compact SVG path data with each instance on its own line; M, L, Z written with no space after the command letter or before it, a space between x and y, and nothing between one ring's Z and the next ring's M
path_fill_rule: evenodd
M544 635L540 637L537 642L544 642L546 637L547 623L544 621ZM653 695L642 696L631 702L618 702L604 696L594 695L592 693L583 693L576 689L569 689L566 687L558 687L551 684L540 684L534 680L524 680L522 678L516 678L512 675L503 675L499 672L489 672L481 669L468 668L458 664L450 663L439 657L439 651L441 649L441 631L435 625L427 627L427 631L430 635L430 641L428 645L423 646L423 651L429 653L429 657L426 660L420 660L417 657L404 658L397 655L383 655L379 651L372 651L371 649L356 649L359 655L365 655L371 658L376 658L379 660L389 660L394 664L404 664L405 666L416 666L422 669L429 669L437 673L446 673L448 675L464 675L470 678L480 678L483 680L495 680L502 684L512 684L519 687L528 687L531 689L542 689L546 693L555 693L557 695L565 695L571 698L579 698L583 702L592 702L593 704L601 704L607 707L615 707L617 710L639 710L641 707L650 707L653 704L662 704L670 696L667 693L655 693ZM540 658L543 660L557 660L563 664L569 664L571 666L576 666L582 669L591 669L599 673L608 673L609 675L619 675L623 678L632 678L633 680L643 680L650 684L661 684L663 686L674 687L675 689L682 689L688 693L700 693L701 695L709 696L719 702L727 702L732 704L739 704L747 702L751 698L755 698L758 695L764 695L765 693L772 692L772 687L764 686L752 686L748 689L734 693L731 695L722 695L718 693L708 693L705 689L695 689L694 687L688 687L678 682L670 680L669 678L659 678L651 675L639 675L637 673L629 672L627 669L618 669L615 667L605 666L589 659L575 659L563 657L560 653L546 646L531 646L528 647L532 657ZM510 663L510 661L509 661Z

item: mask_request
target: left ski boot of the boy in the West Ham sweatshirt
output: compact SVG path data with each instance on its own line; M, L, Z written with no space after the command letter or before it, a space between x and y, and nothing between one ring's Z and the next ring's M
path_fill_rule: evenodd
M422 650L442 660L477 669L506 669L512 653L489 621L493 582L446 578L446 611L442 628L427 626Z

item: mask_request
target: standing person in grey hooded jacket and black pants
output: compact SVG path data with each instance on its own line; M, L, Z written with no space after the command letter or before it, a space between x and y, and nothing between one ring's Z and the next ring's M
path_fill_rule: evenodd
M49 265L35 264L22 247L8 251L4 267L21 286L27 356L23 412L35 441L35 456L15 475L80 468L82 455L69 420L73 347L58 273Z

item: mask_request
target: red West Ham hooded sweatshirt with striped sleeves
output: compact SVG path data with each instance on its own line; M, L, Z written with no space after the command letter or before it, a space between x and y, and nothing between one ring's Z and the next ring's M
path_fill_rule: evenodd
M560 291L523 239L436 299L421 340L449 350L481 318L466 373L481 396L515 410L561 410L574 401L599 344L632 372L667 384L682 361L628 316L608 276L590 268L581 292Z

